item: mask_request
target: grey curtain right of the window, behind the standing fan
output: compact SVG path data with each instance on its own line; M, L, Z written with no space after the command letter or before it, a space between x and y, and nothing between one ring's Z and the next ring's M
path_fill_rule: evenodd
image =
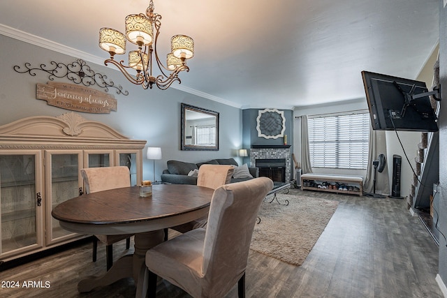
M386 135L385 131L374 131L372 126L369 127L369 151L368 151L368 165L365 183L363 190L366 193L373 193L374 191L374 165L373 161L377 160L379 154L386 155ZM390 183L388 181L388 161L386 161L383 172L376 172L376 193L389 194Z

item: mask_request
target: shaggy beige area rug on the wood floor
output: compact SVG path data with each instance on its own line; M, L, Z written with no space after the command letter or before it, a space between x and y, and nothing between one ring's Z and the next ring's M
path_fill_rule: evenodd
M279 202L261 204L250 248L296 266L302 265L314 247L338 202L298 195L278 194Z

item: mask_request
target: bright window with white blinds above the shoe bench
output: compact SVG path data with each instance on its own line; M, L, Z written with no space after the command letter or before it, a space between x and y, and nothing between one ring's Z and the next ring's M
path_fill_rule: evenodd
M309 151L312 167L366 169L369 114L309 117Z

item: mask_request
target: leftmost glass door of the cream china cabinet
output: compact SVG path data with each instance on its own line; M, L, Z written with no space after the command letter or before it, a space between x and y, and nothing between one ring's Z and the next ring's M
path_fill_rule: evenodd
M40 152L0 154L0 256L42 246ZM1 258L0 258L1 260Z

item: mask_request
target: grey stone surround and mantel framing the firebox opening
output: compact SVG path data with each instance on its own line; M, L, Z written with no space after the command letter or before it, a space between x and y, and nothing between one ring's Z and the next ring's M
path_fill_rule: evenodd
M291 145L251 145L250 166L256 165L256 159L285 158L286 182L291 181Z

